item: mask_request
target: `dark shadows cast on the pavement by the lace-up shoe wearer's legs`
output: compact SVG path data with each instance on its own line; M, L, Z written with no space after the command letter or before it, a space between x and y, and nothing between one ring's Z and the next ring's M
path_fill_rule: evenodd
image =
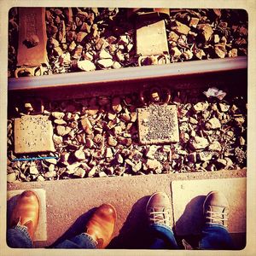
M202 205L205 198L205 195L199 195L189 201L183 215L177 220L175 230L179 232L178 236L175 235L175 237L181 248L183 248L183 238L192 247L198 247L200 238L198 234L203 224ZM134 204L125 220L125 224L119 231L119 236L113 238L108 248L148 249L149 237L147 234L147 218L145 214L148 199L149 196L145 196ZM176 234L175 230L174 233ZM183 236L183 234L188 234L188 231L191 236ZM182 236L179 234L182 234Z

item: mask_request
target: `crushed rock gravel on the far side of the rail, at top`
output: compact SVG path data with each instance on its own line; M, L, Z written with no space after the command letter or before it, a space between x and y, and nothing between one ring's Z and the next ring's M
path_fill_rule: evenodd
M46 8L49 68L44 74L138 66L135 20L122 8ZM143 9L147 10L147 9ZM9 11L9 77L18 48L18 9ZM247 55L241 9L170 9L165 19L171 62ZM143 65L154 64L148 57Z

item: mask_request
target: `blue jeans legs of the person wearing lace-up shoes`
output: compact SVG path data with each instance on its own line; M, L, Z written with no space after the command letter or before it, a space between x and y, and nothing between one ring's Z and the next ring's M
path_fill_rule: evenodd
M178 249L172 230L163 224L152 224L148 233L151 236L150 249ZM199 248L204 250L231 250L233 241L228 230L222 225L206 224L202 230Z

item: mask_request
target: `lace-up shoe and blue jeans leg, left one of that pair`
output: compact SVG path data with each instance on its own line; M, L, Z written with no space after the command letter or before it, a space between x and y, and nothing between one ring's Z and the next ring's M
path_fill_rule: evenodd
M154 193L146 207L148 215L148 242L151 249L177 249L177 241L172 232L172 205L168 195Z

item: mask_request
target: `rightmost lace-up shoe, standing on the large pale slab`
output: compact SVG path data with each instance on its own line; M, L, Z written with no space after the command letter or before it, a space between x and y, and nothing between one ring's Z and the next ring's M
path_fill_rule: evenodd
M230 206L223 193L211 191L203 204L206 224L221 224L228 226Z

